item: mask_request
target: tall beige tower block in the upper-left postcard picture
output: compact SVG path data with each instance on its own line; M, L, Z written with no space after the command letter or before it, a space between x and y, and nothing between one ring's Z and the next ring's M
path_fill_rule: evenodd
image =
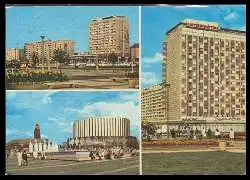
M89 24L89 52L129 56L129 21L125 16L109 16Z

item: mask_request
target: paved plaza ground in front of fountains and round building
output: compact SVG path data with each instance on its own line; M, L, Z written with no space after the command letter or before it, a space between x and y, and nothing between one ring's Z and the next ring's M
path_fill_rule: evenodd
M17 159L6 162L9 175L139 175L139 157L102 161L30 160L28 167L18 168Z

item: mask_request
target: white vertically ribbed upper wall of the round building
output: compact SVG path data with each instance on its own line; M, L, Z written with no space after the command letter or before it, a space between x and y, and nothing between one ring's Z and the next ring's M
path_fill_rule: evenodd
M73 123L73 137L129 137L130 121L122 117L90 117Z

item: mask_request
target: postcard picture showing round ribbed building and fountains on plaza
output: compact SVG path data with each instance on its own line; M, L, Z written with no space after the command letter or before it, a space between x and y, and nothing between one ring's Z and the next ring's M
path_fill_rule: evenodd
M139 93L6 93L7 175L139 175Z

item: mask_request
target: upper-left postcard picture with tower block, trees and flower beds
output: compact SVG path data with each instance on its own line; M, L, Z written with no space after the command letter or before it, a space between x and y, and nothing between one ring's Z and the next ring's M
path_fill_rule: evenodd
M139 89L139 7L5 8L7 90Z

